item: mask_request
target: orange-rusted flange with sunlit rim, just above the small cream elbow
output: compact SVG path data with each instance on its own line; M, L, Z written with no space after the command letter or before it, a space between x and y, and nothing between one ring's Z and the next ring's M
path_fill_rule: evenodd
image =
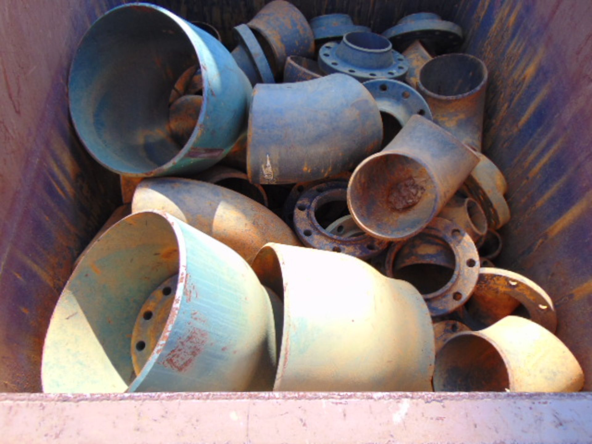
M500 296L514 298L525 308L531 321L555 333L557 328L555 306L551 297L536 282L502 268L481 268L472 297L488 298L491 303L494 303L494 298ZM485 323L471 312L469 305L462 307L459 316L474 330L484 329L495 322Z

